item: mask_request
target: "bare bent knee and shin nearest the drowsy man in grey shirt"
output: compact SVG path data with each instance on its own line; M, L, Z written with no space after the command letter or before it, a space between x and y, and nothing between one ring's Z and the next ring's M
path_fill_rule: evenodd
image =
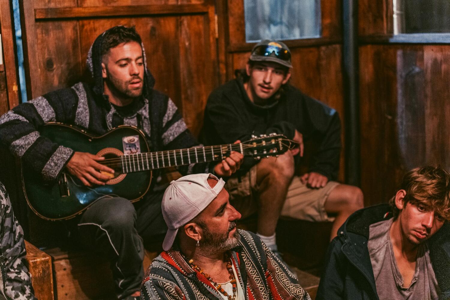
M325 201L325 211L336 214L330 240L338 234L339 227L344 224L347 218L363 207L364 197L360 188L347 184L339 184L334 188Z

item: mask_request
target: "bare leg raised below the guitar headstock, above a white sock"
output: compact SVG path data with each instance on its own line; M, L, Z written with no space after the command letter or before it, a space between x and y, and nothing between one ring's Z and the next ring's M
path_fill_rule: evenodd
M290 151L279 157L263 158L257 164L258 233L264 236L275 233L293 175L294 159Z

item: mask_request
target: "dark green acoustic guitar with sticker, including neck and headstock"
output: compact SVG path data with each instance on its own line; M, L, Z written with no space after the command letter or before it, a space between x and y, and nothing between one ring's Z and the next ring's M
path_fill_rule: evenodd
M28 205L47 220L73 218L101 197L138 201L150 188L152 170L221 161L231 151L255 158L278 156L296 146L284 135L269 134L237 144L150 152L144 133L126 125L94 137L71 125L52 122L44 125L40 134L74 151L103 156L105 160L100 163L115 170L105 185L87 187L66 171L56 181L45 182L40 174L22 164L22 184Z

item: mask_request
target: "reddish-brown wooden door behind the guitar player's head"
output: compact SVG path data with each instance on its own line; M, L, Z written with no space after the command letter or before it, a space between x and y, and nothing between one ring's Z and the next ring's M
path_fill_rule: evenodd
M212 1L31 0L22 8L30 98L82 80L94 39L110 27L134 25L155 89L171 97L198 134L207 96L218 82Z

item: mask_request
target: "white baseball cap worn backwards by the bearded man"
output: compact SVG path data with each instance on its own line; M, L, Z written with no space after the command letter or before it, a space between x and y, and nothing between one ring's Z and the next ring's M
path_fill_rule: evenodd
M207 179L217 180L214 188ZM169 251L175 241L178 229L195 218L220 193L225 185L223 179L210 174L192 174L172 180L162 196L162 216L169 228L162 243L162 249Z

